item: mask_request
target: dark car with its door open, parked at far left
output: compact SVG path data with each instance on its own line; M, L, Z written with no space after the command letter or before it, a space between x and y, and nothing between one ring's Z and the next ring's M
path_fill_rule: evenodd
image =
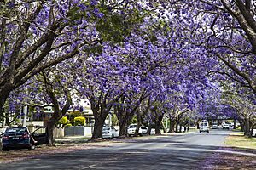
M2 135L2 150L33 150L35 145L46 144L46 133L37 133L38 129L30 133L27 127L7 128Z

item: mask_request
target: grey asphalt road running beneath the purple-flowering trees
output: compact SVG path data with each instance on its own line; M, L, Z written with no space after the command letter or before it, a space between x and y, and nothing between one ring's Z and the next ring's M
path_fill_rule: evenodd
M199 169L207 156L221 151L219 146L229 133L212 130L128 139L107 147L1 164L0 169Z

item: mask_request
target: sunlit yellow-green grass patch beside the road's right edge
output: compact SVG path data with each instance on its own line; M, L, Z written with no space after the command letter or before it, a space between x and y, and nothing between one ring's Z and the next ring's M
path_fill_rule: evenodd
M242 132L231 133L230 136L226 138L225 145L256 150L256 138L247 138L243 136Z

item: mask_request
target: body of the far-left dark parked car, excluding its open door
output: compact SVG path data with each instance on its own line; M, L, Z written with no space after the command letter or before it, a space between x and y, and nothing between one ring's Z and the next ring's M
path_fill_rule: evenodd
M34 140L27 127L10 127L5 130L2 136L2 150L11 149L34 149Z

